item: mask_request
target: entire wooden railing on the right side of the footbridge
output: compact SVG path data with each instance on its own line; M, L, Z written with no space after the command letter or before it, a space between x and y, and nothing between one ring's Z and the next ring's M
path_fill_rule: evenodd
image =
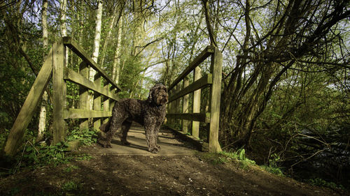
M209 56L211 56L210 73L202 77L199 66ZM207 126L209 132L207 134L207 142L209 142L210 152L221 151L221 146L218 143L218 128L220 117L222 62L223 57L221 52L216 47L208 46L169 86L167 123L174 124L174 119L182 119L182 131L180 131L180 133L188 135L188 121L192 121L191 138L195 139L199 138L200 122L209 123ZM189 84L188 75L192 71L194 71L194 82ZM201 89L204 87L209 87L210 89L209 111L200 112ZM189 93L193 93L192 113L188 113L190 108L188 106ZM205 144L205 142L203 144Z

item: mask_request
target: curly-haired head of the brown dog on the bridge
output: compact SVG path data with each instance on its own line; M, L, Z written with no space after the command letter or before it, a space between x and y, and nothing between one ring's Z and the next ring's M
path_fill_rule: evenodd
M163 84L155 84L148 94L148 103L155 105L165 105L168 102L168 90Z

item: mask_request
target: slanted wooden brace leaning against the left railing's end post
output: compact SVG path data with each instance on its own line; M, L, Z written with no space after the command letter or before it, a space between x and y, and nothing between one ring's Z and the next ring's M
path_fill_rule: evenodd
M54 45L57 45L57 43ZM45 91L48 82L50 82L52 75L52 54L53 47L48 53L48 56L46 56L43 66L41 67L38 76L36 77L33 86L31 86L27 98L25 99L25 103L23 103L20 113L15 119L15 123L13 123L6 140L6 146L3 149L8 156L15 155L18 148L22 144L22 138L23 135L25 135L25 130L33 117L36 107L38 107L39 100L41 100L41 96L43 96L43 92Z

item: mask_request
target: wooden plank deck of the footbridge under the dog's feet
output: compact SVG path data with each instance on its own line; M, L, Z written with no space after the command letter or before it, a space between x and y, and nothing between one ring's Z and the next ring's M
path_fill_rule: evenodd
M115 136L112 140L112 148L103 148L97 146L94 153L106 155L142 155L142 156L176 156L190 155L195 153L195 150L190 149L183 142L176 140L174 133L171 130L161 129L158 134L158 145L161 149L158 153L150 153L147 151L145 131L142 126L133 123L127 134L127 141L130 146L123 146L120 143L119 137Z

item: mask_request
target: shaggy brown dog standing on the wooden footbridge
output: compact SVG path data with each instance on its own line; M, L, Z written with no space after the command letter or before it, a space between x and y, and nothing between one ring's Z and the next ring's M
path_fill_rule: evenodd
M125 98L118 101L113 107L109 122L99 128L106 133L106 142L99 140L99 143L106 148L111 148L112 137L116 130L121 127L121 133L118 136L123 145L130 145L127 142L127 132L132 121L136 121L145 128L148 151L158 153L160 149L157 144L158 132L165 119L167 102L167 87L163 84L155 84L150 90L147 100Z

